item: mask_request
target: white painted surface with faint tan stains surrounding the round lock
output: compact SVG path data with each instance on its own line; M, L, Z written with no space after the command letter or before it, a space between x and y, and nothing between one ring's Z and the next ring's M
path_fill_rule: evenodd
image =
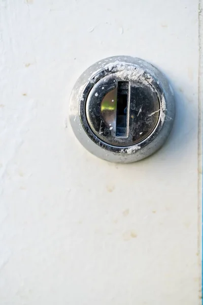
M198 1L0 8L1 305L198 304ZM77 77L117 54L177 99L170 139L130 165L91 156L67 121Z

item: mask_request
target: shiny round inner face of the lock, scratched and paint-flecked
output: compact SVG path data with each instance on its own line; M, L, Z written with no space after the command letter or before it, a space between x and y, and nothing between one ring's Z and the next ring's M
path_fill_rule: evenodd
M100 79L86 102L91 130L115 146L141 142L154 130L159 115L160 102L149 83L122 82L114 74Z

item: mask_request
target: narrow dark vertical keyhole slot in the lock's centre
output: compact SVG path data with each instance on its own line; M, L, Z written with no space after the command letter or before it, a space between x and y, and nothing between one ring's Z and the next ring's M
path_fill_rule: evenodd
M128 81L118 81L117 110L116 110L116 136L127 136L127 108L128 108Z

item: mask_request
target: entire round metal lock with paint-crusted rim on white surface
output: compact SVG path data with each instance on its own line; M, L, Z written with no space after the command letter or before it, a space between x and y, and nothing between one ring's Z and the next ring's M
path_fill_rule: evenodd
M134 162L166 140L175 116L174 94L165 76L140 58L115 56L88 68L70 103L73 130L92 154Z

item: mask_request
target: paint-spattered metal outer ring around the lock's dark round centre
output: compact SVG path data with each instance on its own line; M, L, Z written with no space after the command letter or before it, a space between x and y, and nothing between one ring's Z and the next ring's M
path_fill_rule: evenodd
M160 112L153 131L133 145L111 145L101 140L90 128L86 116L86 102L95 84L114 75L123 81L149 84L156 93ZM165 76L140 58L114 56L100 60L89 67L77 80L70 99L70 121L82 145L93 155L111 162L130 163L144 159L159 149L173 126L175 102L173 90Z

